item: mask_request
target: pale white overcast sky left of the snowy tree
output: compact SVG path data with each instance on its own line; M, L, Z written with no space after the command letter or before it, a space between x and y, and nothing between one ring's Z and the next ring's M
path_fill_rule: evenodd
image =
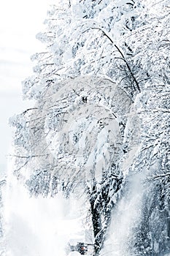
M56 2L57 0L55 0ZM42 31L51 0L6 0L0 8L0 173L7 168L12 141L8 119L26 109L21 81L31 75L30 56L44 45L35 36Z

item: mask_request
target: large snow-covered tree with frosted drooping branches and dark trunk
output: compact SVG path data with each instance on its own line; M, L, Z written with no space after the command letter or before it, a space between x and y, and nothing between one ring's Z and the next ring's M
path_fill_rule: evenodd
M130 246L168 252L169 1L65 0L47 14L37 34L46 48L23 82L36 104L10 121L15 176L33 196L85 193L98 255L117 200L142 173Z

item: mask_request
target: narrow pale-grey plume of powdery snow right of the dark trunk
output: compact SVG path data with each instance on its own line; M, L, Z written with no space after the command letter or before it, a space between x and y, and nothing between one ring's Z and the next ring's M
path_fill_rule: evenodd
M131 237L134 228L138 225L142 213L142 197L144 175L138 173L129 178L125 195L117 203L112 214L109 227L109 238L100 256L131 256L134 255L131 246Z

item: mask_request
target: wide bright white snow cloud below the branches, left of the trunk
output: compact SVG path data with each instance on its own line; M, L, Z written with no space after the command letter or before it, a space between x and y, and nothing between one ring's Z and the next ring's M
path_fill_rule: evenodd
M30 197L9 175L4 203L7 256L66 256L66 246L81 231L80 212L60 194Z

